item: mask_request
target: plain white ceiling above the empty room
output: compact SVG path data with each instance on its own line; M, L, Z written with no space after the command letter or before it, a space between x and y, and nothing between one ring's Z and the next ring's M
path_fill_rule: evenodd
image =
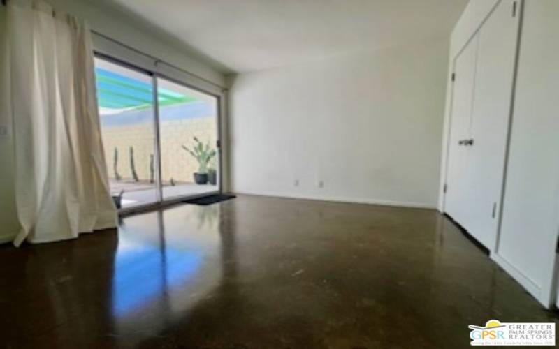
M467 0L103 0L224 73L450 35Z

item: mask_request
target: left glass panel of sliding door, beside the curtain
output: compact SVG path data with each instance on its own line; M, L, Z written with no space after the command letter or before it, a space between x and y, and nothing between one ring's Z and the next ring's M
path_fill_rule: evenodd
M99 57L95 74L113 200L122 208L157 202L153 77Z

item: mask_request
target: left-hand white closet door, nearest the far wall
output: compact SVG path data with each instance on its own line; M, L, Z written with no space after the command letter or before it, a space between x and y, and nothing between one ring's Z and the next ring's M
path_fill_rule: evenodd
M454 221L467 229L466 172L468 149L465 140L470 139L470 118L477 57L477 35L467 43L454 62L456 80L453 84L451 130L449 138L449 165L447 170L447 195L444 211Z

